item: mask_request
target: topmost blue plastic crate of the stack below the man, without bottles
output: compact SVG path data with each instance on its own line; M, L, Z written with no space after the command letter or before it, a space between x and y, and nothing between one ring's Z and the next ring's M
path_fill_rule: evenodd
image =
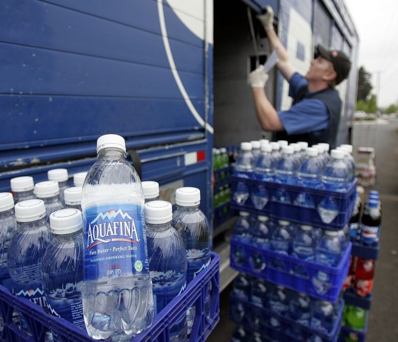
M250 211L257 215L270 215L281 220L310 224L334 230L342 229L347 222L349 222L355 204L355 190L357 188L357 179L355 179L348 191L340 193L233 176L231 182L233 198L238 187L238 183L244 183L250 194L249 198L243 205L234 201L233 206L238 210ZM256 209L251 199L254 189L259 186L263 187L263 189L267 191L269 198L268 203L261 210ZM280 191L283 191L286 195L285 197L287 198L287 202L277 202L275 200L276 193ZM314 203L313 207L304 207L294 204L297 197L304 192L311 196ZM331 222L322 221L318 213L317 208L324 198L332 198L338 207L339 213Z

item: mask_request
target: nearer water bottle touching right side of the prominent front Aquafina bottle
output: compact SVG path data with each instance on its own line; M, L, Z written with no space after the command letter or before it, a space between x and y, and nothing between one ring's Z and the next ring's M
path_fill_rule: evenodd
M187 281L187 255L177 230L171 226L172 208L166 201L145 203L146 239L153 285L155 315L182 294ZM186 341L186 314L170 329L170 341Z

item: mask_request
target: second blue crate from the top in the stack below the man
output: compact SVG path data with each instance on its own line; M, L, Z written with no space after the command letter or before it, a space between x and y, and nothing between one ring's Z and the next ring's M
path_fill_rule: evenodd
M328 267L313 261L305 261L291 255L282 255L277 252L253 246L238 240L231 239L231 267L255 277L283 285L293 291L305 293L329 302L336 302L345 276L350 267L351 243L342 254L337 267ZM282 262L284 270L272 267L272 264ZM301 277L293 274L292 270L300 267L308 274ZM318 279L329 279L330 287Z

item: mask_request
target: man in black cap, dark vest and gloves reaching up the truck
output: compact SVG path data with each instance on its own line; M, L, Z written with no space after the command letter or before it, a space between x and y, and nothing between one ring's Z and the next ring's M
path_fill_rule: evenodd
M264 130L277 131L278 140L307 141L309 145L326 142L334 148L341 112L341 100L334 87L347 78L351 62L342 51L318 45L310 69L303 77L295 72L285 47L273 30L272 8L267 6L266 10L258 19L271 49L278 48L277 67L289 82L293 103L288 111L277 112L272 107L264 91L268 75L260 65L251 72L250 83L261 126Z

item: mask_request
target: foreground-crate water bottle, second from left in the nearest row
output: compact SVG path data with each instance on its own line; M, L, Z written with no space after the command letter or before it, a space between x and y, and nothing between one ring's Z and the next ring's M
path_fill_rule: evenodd
M58 184L57 184L58 186ZM40 199L29 199L15 204L18 223L8 247L8 272L14 294L47 309L41 282L43 255L50 242L45 206ZM19 314L20 329L32 336L28 323Z

